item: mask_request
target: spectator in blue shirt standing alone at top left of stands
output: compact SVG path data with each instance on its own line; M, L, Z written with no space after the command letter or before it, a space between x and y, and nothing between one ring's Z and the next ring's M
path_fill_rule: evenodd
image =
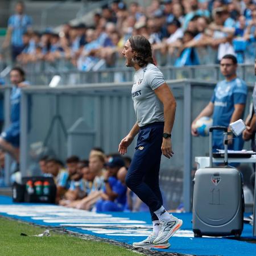
M32 19L30 16L24 14L24 3L21 1L16 3L15 11L16 14L11 15L8 20L7 34L5 42L3 43L3 48L6 48L11 41L11 55L13 61L23 50L22 35L26 32L32 32Z

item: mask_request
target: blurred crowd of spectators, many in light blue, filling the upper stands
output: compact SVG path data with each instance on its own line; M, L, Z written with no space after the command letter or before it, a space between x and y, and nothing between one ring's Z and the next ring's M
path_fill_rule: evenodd
M153 0L146 8L137 2L127 6L113 1L94 14L92 25L67 23L58 32L33 31L31 18L23 14L20 2L16 14L9 18L2 46L11 44L13 59L20 64L65 59L88 71L105 60L113 67L131 35L144 35L154 53L175 55L177 67L200 64L196 47L217 49L212 63L226 53L236 55L238 63L245 62L245 50L255 54L255 0ZM19 15L23 15L20 21Z

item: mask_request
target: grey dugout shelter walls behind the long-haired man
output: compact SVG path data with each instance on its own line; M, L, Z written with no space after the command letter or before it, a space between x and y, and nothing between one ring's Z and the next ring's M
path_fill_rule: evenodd
M191 121L209 102L216 82L167 82L177 101L172 131L175 155L171 160L162 158L160 185L169 209L184 202L188 211L191 209L195 156L209 152L207 137L191 138ZM38 174L38 159L43 154L56 155L60 159L71 154L86 158L94 146L100 146L106 152L117 152L119 141L135 122L130 90L130 82L23 89L22 175ZM252 90L253 85L250 85L247 103ZM129 147L128 155L133 155L134 146L135 141ZM245 148L249 148L249 144Z

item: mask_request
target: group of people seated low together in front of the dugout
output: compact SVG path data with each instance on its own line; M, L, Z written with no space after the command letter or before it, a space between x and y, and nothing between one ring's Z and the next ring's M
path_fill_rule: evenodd
M97 212L146 211L125 185L130 163L129 157L105 155L101 148L93 148L89 160L77 156L70 156L65 164L50 156L39 160L42 175L55 181L57 204Z

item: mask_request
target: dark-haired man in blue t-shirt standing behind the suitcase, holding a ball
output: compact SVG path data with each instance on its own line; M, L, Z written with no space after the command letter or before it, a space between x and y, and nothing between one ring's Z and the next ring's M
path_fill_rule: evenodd
M217 83L209 104L192 122L191 133L193 136L198 136L195 123L201 117L210 117L213 114L213 126L225 126L228 127L228 131L230 131L230 123L243 117L247 85L245 81L237 77L237 58L230 54L223 56L220 70L225 80ZM229 149L242 150L242 134L232 138L232 135L229 135ZM213 131L213 152L216 152L217 148L224 149L222 131Z

